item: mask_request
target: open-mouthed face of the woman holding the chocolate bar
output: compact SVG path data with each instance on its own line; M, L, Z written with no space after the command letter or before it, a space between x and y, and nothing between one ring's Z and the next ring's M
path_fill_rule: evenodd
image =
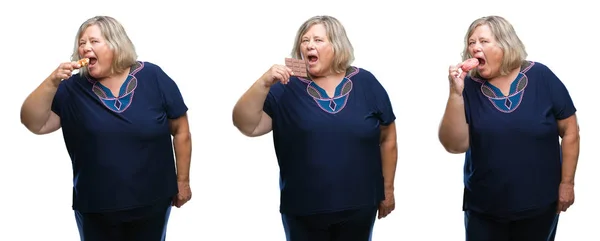
M300 52L307 63L311 76L326 76L332 73L333 45L327 38L323 24L315 24L302 36Z

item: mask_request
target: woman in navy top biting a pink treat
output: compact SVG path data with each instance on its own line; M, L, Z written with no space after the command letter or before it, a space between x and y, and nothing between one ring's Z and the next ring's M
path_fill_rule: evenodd
M450 66L439 128L450 153L466 153L466 240L554 240L574 201L579 156L576 109L561 80L527 52L500 16L475 20L463 60ZM559 137L562 142L559 141Z

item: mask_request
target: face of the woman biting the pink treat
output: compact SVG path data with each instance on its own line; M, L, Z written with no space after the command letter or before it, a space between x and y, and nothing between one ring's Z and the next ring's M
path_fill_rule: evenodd
M504 51L487 24L475 28L469 36L467 50L473 58L479 60L477 72L481 77L492 79L500 75Z

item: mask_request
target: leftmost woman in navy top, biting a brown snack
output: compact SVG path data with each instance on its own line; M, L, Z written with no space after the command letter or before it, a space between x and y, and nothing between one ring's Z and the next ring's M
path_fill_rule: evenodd
M170 207L191 198L188 108L177 85L138 61L108 16L80 26L72 61L27 97L21 122L40 135L62 127L81 240L164 240Z

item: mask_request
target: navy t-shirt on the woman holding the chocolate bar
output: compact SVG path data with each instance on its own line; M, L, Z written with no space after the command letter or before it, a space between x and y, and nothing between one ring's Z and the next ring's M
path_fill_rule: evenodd
M350 68L333 98L292 77L271 87L264 111L273 120L282 213L335 212L384 198L379 128L396 117L373 74Z

